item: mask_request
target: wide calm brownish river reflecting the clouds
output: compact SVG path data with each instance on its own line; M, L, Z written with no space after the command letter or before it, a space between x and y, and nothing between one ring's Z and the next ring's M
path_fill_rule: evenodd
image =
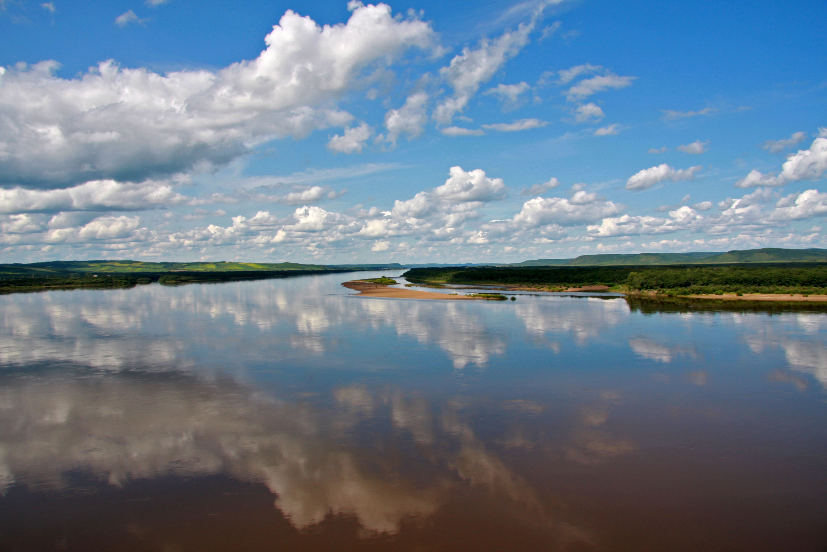
M378 275L0 297L0 550L827 550L825 312Z

